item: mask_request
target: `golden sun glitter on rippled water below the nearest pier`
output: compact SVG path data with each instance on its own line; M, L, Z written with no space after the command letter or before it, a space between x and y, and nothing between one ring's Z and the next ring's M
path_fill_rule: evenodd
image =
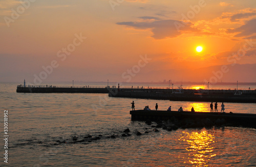
M189 144L186 150L188 151L188 161L191 164L194 166L208 166L210 158L216 156L212 153L214 147L211 147L211 143L215 142L214 139L214 135L203 130L201 133L183 131L179 140Z

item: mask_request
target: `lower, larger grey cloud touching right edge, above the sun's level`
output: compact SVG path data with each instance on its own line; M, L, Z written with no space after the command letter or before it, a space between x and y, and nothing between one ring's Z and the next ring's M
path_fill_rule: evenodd
M256 33L256 19L247 21L244 25L238 27L237 29L228 30L228 33L239 33L234 37L245 37Z

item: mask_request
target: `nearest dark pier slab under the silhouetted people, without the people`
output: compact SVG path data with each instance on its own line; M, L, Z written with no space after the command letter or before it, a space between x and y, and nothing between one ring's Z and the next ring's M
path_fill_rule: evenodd
M168 131L178 128L203 128L213 126L243 126L256 128L255 114L234 113L204 113L204 112L168 112L156 110L130 111L132 121L146 121L158 123Z

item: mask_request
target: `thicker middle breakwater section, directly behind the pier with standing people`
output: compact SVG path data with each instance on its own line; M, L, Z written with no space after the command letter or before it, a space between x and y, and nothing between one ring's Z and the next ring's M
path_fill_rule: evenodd
M182 90L175 93L168 89L121 89L111 90L111 97L161 99L172 101L204 101L204 102L239 102L256 103L256 91L242 91L241 95L234 95L234 90Z

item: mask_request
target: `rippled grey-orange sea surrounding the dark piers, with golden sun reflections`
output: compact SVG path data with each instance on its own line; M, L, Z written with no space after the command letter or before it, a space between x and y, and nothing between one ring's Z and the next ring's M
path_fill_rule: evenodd
M145 105L154 109L158 103L159 110L166 110L171 105L172 110L182 106L184 110L194 107L196 112L209 112L209 102L114 98L93 93L16 93L20 84L23 83L0 83L0 166L256 166L254 128L173 131L159 128L159 132L155 132L152 126L157 124L154 122L147 125L131 121L132 101L135 109L142 109ZM49 85L70 87L72 83ZM74 87L88 85L75 84ZM104 86L90 83L90 87ZM133 85L137 86L143 85ZM165 89L168 86L144 87ZM197 87L203 86L183 86ZM236 87L225 85L211 89ZM256 89L248 85L239 86L239 89L248 90L249 87ZM224 104L226 112L256 114L255 103ZM131 135L123 137L127 128ZM136 135L137 132L142 135ZM74 143L74 138L79 141L89 135L98 139ZM111 138L112 135L116 138Z

